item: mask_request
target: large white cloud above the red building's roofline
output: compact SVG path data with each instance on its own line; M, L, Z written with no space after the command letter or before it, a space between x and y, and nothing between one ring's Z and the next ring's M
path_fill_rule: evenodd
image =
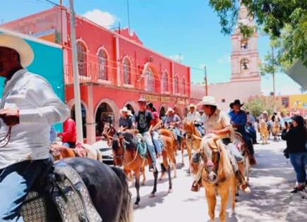
M88 18L94 23L101 25L103 27L110 28L114 23L116 23L116 16L113 16L107 11L100 11L99 9L93 9L92 11L87 11L83 17Z

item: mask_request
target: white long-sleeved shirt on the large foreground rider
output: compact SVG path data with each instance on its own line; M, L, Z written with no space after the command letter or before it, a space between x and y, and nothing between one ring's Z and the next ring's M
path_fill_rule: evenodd
M40 75L18 70L6 82L0 109L19 109L20 123L11 128L11 140L0 143L0 169L25 160L47 159L50 126L63 122L68 107L56 96L47 80ZM0 140L8 126L0 119Z

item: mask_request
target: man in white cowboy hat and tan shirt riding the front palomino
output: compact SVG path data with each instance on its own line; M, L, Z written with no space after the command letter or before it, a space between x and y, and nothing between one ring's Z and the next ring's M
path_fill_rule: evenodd
M231 132L229 116L227 115L227 113L224 113L217 108L215 97L203 97L203 101L200 101L198 105L203 106L203 127L205 128L205 132L213 133L217 136L224 137L222 141L224 142L225 147L229 149L231 154L236 159L241 175L244 175L243 156L241 155L237 147L231 143L229 138L229 133ZM207 156L209 159L207 161L207 167L213 167L214 164L212 163L212 161L210 161L210 159L212 160L212 151L207 150L207 152ZM197 158L195 161L198 161ZM241 189L243 192L248 192L248 185L241 175L238 175L239 182L241 183ZM198 190L198 181L195 181L193 183L192 190Z

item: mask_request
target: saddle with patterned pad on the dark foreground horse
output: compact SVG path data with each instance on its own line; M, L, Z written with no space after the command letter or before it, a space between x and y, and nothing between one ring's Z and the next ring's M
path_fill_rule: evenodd
M71 166L61 161L53 165L50 161L38 178L23 203L23 221L50 221L52 204L56 206L61 221L102 221L92 204L88 188Z

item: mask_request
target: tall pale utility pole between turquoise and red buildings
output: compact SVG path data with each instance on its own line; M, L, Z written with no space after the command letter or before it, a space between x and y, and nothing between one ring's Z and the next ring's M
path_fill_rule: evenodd
M76 44L76 21L75 21L75 11L73 9L73 0L69 0L69 9L71 13L71 50L73 52L73 93L75 96L77 142L83 143L80 83L79 83L79 72L78 72L77 44Z

